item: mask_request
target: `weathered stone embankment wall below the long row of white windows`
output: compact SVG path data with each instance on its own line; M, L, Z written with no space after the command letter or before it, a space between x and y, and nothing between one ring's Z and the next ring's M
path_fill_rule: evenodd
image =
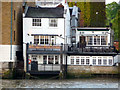
M118 74L117 66L68 66L67 74L80 76L92 74Z

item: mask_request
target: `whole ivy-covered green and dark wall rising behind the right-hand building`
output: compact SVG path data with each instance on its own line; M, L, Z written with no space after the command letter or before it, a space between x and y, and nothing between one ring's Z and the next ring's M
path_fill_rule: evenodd
M74 2L69 2L69 6L74 6ZM105 26L105 3L104 2L77 2L81 9L80 26ZM96 12L99 14L96 15Z

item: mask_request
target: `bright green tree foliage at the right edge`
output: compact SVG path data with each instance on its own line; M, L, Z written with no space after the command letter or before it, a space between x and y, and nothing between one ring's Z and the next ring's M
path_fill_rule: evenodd
M120 5L116 2L112 2L106 5L106 25L112 24L112 29L114 30L115 40L120 39Z

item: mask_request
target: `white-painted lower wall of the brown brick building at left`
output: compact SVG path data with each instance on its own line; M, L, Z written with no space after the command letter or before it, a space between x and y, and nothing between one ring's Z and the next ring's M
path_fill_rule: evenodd
M11 45L0 45L0 62L15 62L17 60L16 51L19 51L20 48L20 45L12 45L12 60L10 60Z

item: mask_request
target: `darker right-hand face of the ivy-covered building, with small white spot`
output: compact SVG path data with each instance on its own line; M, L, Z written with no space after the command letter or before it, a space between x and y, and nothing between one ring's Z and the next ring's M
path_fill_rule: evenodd
M91 2L90 3L90 26L104 27L105 26L105 3Z

